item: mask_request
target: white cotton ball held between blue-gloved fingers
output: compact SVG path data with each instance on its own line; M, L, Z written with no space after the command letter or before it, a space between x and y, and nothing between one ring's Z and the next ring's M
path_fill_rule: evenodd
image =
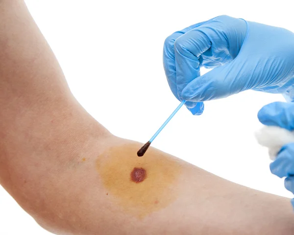
M294 132L280 127L265 126L255 132L258 143L269 148L270 159L274 160L280 149L289 143L294 143Z

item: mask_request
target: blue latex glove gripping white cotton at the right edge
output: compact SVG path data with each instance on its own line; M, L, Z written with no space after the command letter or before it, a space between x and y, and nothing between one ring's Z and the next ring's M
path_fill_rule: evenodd
M258 112L261 123L294 131L294 103L275 102L264 106ZM282 147L276 159L270 163L272 174L286 177L285 187L294 193L294 143ZM294 207L294 199L291 200Z

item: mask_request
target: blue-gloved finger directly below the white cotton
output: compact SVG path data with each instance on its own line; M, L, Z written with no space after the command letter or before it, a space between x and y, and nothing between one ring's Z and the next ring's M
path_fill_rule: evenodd
M282 147L277 158L270 163L270 171L280 178L294 175L294 143Z

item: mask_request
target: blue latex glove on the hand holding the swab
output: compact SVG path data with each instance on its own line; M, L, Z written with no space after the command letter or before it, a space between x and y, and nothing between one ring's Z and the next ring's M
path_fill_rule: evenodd
M169 36L163 63L172 93L193 114L203 101L248 89L294 100L294 33L284 28L219 16ZM213 70L200 76L201 66Z

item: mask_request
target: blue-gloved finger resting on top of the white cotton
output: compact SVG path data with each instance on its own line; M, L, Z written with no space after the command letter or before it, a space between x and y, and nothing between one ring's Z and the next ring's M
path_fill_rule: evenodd
M294 104L274 102L262 107L258 112L259 121L267 126L278 126L294 130Z

